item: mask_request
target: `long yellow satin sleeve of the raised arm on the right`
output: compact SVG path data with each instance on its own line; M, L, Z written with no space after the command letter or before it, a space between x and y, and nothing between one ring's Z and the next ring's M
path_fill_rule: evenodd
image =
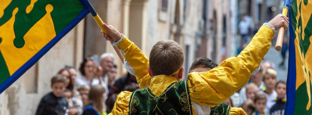
M249 80L271 46L274 31L262 26L248 46L237 56L230 57L207 72L188 74L191 100L198 105L215 106L230 98Z

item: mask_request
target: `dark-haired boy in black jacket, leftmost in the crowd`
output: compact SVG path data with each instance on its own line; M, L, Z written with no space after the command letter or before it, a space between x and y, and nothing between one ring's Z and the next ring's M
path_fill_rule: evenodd
M56 75L51 79L52 92L46 94L40 101L36 115L64 115L67 109L67 101L63 96L66 80L62 75Z

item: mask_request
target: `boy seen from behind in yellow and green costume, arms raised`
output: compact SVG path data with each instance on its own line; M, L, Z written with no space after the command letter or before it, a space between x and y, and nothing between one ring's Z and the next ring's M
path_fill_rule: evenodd
M109 33L104 34L104 37L109 39L110 36L124 52L124 58L133 68L142 88L134 93L119 93L110 114L195 115L195 104L219 105L248 82L251 72L260 64L271 45L274 28L288 27L288 18L282 15L270 22L259 29L237 57L228 58L210 71L189 73L188 80L181 82L179 79L184 71L184 55L178 43L170 40L157 42L148 59L128 38L123 37L114 27L104 24ZM166 103L168 100L176 101Z

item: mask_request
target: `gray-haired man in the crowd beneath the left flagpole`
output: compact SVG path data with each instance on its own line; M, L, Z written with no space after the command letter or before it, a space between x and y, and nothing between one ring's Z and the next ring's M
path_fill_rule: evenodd
M112 85L112 82L115 78L110 78L107 73L114 68L114 55L112 53L103 53L100 56L100 66L103 68L100 79L102 81L102 85L106 89L106 94L109 93L109 87Z

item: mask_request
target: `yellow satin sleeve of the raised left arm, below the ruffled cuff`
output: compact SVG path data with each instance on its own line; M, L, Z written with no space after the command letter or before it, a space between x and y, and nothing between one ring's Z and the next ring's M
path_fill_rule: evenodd
M124 58L131 65L136 73L136 79L141 89L146 88L146 82L150 78L147 67L149 66L149 58L131 42L127 37L117 44L117 46L125 52Z

